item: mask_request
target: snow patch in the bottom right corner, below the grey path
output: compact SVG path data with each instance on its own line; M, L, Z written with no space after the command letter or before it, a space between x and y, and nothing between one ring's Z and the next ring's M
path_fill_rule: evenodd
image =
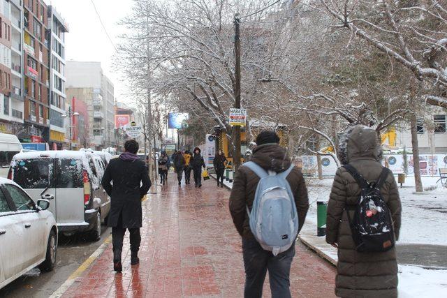
M399 298L446 297L447 270L399 266Z

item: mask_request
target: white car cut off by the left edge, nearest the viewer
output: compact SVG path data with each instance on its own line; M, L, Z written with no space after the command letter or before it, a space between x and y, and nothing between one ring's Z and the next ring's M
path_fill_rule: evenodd
M57 225L47 208L13 181L0 178L0 289L38 266L54 269Z

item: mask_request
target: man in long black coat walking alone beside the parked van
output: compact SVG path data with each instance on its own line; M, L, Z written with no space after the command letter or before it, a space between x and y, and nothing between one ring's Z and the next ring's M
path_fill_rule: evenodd
M108 226L112 227L113 269L122 271L121 255L126 229L130 232L131 265L140 262L141 200L151 187L147 166L138 159L138 142L127 140L124 153L110 160L101 181L110 196ZM112 182L112 183L111 183Z

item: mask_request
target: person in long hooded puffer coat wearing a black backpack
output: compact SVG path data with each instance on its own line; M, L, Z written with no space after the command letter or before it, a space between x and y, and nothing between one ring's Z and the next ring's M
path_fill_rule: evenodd
M399 238L402 207L393 172L384 169L380 159L381 147L374 129L356 125L340 137L339 161L344 166L335 174L326 221L326 241L338 250L335 280L338 297L397 297L397 261L393 243ZM370 183L374 183L374 187L370 188ZM367 191L379 192L380 197L376 197L375 203L371 203L371 196L361 196L365 186L369 188ZM362 202L369 204L371 209L358 213ZM377 208L376 204L382 204L382 207ZM383 212L389 212L384 220L380 215ZM356 221L353 220L355 214L358 214ZM360 216L362 214L365 216ZM362 217L368 218L367 221ZM383 237L388 232L391 240L378 242L381 244L379 250L388 250L372 252L369 248L367 251L366 246L358 242L358 229L352 227L371 223L374 228L377 218L381 218L378 225L389 223L389 228L374 232L376 237Z

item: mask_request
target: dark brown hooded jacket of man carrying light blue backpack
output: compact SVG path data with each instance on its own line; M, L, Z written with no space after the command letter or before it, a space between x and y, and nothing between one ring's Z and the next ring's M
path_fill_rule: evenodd
M261 165L265 170L273 170L274 172L284 172L291 166L291 160L287 156L286 149L278 144L265 144L256 147L251 161ZM309 209L305 179L302 177L300 169L294 167L292 172L288 174L287 181L295 198L299 230L301 230L305 223L307 209ZM259 177L243 165L237 170L233 181L233 189L230 195L230 213L237 232L244 238L254 237L251 234L246 206L251 210L258 182Z

